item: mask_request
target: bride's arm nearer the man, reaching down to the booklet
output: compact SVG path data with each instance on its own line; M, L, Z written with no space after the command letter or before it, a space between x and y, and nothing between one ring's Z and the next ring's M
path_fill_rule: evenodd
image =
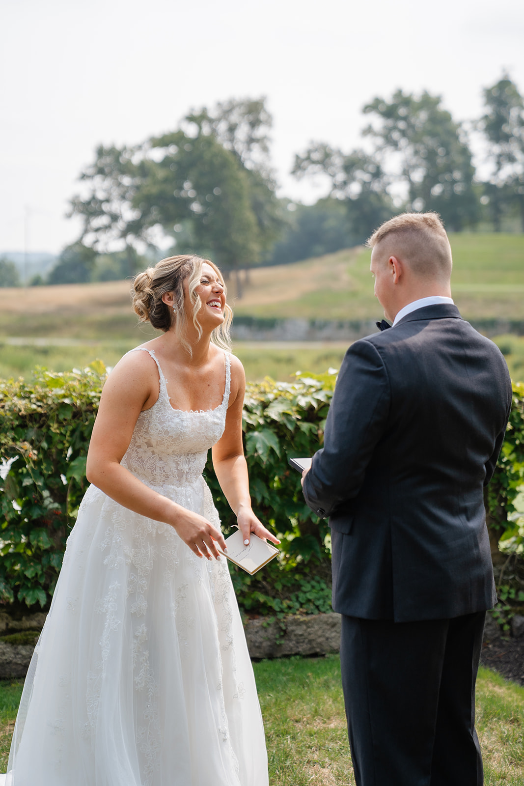
M244 535L244 542L249 542L250 534L254 532L259 538L280 543L269 530L266 530L251 509L247 464L242 445L242 407L245 390L244 368L238 358L232 357L231 395L225 417L225 429L218 443L211 449L214 472L225 498L236 515L239 529Z

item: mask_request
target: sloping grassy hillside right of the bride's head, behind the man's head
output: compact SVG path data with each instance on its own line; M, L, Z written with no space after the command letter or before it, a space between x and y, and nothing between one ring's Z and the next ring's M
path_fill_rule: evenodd
M453 298L467 319L524 319L524 235L451 234ZM371 252L355 248L261 268L235 313L257 317L372 319L380 314Z

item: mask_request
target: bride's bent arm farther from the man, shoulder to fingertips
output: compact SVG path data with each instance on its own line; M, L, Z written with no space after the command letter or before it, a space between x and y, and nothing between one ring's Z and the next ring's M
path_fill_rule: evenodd
M138 355L138 357L137 357ZM87 479L120 505L170 524L197 556L219 558L224 538L209 521L148 488L120 465L138 415L158 397L156 365L145 352L126 355L104 384L87 454Z

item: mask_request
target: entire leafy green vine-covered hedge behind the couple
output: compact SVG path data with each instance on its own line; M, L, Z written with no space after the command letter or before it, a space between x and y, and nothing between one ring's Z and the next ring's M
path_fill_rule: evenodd
M101 362L70 373L36 369L34 380L0 382L0 602L46 608L64 545L86 490L86 450L100 400ZM233 567L249 614L329 611L327 523L305 505L288 456L322 441L335 373L290 384L249 384L244 434L253 507L282 540L282 558L255 577ZM211 461L207 482L226 529L234 523ZM514 501L524 483L524 385L514 385L510 426L486 502L493 542L524 540ZM508 518L509 516L509 518ZM520 527L520 528L519 528Z

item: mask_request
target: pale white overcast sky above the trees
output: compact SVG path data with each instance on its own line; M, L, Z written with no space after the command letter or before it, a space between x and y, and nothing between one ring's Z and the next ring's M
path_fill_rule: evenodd
M0 0L0 252L59 252L99 143L172 130L189 108L266 95L280 193L310 140L349 151L395 89L482 113L504 68L524 92L522 0Z

